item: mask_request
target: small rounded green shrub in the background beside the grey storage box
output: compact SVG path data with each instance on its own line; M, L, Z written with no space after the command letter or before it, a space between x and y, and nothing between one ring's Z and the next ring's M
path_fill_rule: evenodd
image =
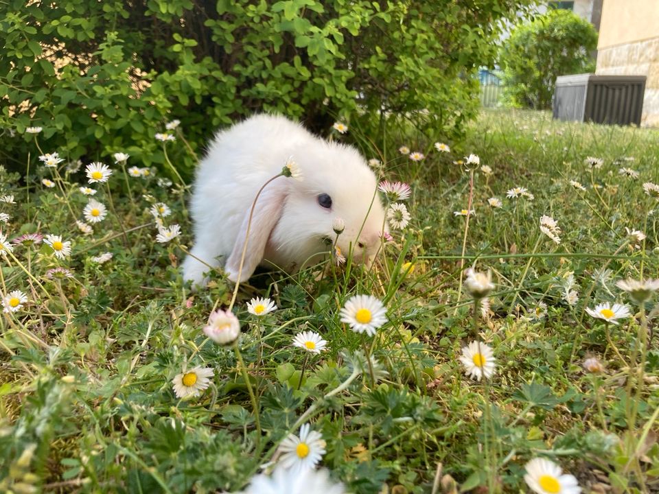
M557 76L592 71L596 47L593 25L570 10L550 10L518 25L499 58L507 99L513 106L550 108Z

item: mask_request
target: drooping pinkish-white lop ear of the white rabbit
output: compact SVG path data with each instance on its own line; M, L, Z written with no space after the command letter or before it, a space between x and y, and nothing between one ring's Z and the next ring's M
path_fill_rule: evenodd
M270 233L277 225L281 210L286 201L288 187L286 180L274 180L262 191L254 207L251 225L249 226L249 237L247 240L247 248L245 250L245 259L240 270L240 283L247 281L253 274L256 267L262 261L266 250L266 244ZM231 281L238 281L238 270L240 268L240 259L242 251L245 246L245 235L247 232L247 225L249 224L250 208L245 211L240 231L235 238L231 254L227 258L227 263L224 266L224 272Z

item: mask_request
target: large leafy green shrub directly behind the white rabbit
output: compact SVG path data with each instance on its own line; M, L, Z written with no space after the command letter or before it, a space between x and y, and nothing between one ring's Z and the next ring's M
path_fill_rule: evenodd
M11 0L0 5L0 149L25 167L23 132L42 126L44 152L159 165L166 121L180 119L197 150L259 110L316 131L349 117L372 139L371 122L400 115L452 137L475 114L471 75L495 54L496 21L530 1ZM194 154L171 153L189 175Z

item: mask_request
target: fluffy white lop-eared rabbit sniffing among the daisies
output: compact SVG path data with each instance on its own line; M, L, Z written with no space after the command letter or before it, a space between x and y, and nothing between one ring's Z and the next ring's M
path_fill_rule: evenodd
M259 264L294 272L321 260L330 249L327 239L336 237L336 217L345 222L338 247L372 261L387 227L378 183L364 158L285 117L255 115L219 132L198 167L190 205L195 242L183 262L185 280L205 285L207 264L222 265L231 281L238 280L252 202L289 159L301 178L280 176L259 196L240 281Z

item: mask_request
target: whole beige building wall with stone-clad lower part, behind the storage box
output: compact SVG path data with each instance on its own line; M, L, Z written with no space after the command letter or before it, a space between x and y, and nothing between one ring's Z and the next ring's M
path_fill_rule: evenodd
M659 126L659 0L604 0L596 73L647 76L641 124Z

